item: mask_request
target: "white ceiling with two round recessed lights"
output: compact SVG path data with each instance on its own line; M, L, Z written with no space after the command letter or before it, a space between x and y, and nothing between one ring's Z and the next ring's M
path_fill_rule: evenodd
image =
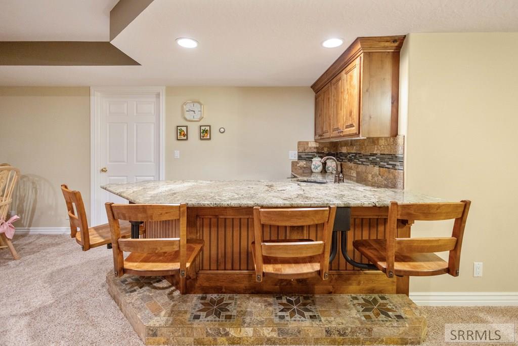
M107 39L117 1L19 2L0 0L0 39ZM357 36L513 32L517 18L516 0L155 0L112 41L141 66L0 66L0 85L309 86ZM320 45L335 36L343 46Z

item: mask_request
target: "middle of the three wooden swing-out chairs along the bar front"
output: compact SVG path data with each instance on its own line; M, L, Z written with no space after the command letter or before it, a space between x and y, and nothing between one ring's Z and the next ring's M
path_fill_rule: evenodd
M280 279L299 279L320 275L322 280L327 280L335 214L336 206L298 209L254 207L255 241L252 242L252 253L256 281L261 282L265 275ZM324 224L321 241L262 239L263 225L309 226L318 224Z

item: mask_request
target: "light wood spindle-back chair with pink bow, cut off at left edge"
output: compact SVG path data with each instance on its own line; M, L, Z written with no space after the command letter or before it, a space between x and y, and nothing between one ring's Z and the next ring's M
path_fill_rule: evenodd
M12 193L15 190L16 183L20 177L20 170L11 167L8 163L0 164L0 219L6 221L7 213L12 203ZM11 215L12 216L12 215ZM20 259L16 252L15 246L4 233L0 233L0 248L8 247L14 259Z

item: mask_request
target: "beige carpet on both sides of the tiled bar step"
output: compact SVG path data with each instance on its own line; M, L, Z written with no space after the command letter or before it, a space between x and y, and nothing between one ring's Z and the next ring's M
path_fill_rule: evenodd
M82 252L68 236L16 236L14 244L18 261L0 250L0 345L142 344L106 290L111 250ZM425 345L444 344L444 323L518 322L518 307L424 311Z

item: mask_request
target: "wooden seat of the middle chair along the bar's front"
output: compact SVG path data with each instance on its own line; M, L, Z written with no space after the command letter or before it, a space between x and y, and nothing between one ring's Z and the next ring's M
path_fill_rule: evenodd
M310 242L311 239L263 240L264 243ZM255 262L255 242L252 242L252 257ZM320 255L308 257L263 256L263 272L280 279L303 279L320 273Z

